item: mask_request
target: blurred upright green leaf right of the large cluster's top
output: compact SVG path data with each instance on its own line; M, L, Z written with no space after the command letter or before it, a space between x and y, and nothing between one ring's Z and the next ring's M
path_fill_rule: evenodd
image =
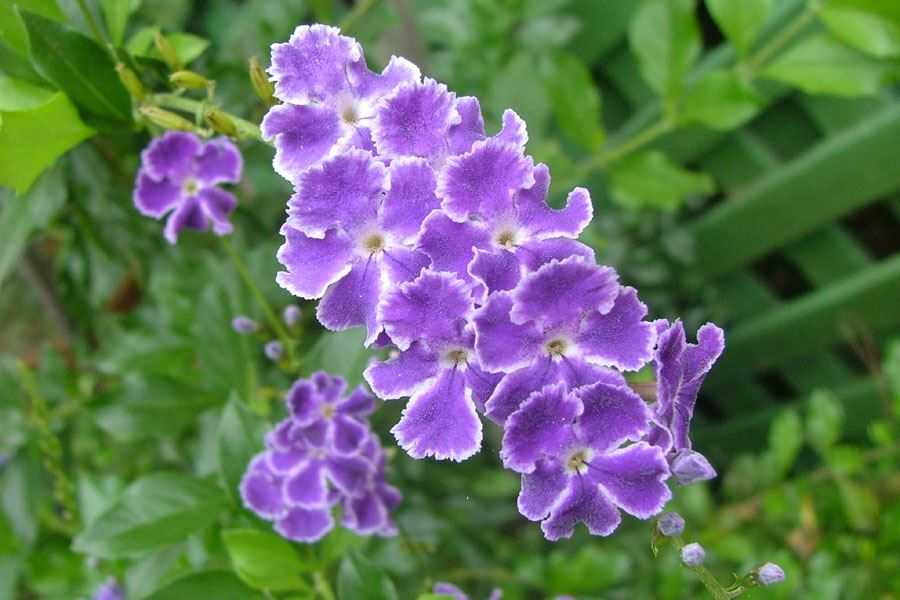
M587 66L570 54L555 56L547 92L563 133L585 150L596 151L605 136L600 120L600 93Z

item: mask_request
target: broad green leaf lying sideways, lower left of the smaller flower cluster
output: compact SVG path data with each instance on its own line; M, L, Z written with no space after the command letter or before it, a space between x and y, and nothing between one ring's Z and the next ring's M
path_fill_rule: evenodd
M73 547L99 558L155 550L205 529L225 505L214 484L178 473L147 475L75 538Z

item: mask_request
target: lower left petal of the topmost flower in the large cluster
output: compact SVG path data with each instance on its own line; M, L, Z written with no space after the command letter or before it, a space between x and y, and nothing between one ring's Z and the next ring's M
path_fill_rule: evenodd
M329 155L341 138L337 113L330 106L279 104L260 126L263 139L275 144L275 171L288 181Z

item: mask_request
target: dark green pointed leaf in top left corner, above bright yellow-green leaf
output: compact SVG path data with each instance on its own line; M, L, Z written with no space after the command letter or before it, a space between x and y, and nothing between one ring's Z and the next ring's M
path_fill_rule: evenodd
M103 48L58 23L21 14L31 39L32 59L42 76L90 113L131 120L131 99Z

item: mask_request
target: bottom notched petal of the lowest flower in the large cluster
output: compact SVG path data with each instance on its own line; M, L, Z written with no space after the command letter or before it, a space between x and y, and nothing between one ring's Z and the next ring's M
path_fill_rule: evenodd
M596 485L584 477L571 477L569 487L553 507L550 517L541 523L544 537L550 541L572 537L575 526L584 523L593 535L609 535L622 522L622 516Z

